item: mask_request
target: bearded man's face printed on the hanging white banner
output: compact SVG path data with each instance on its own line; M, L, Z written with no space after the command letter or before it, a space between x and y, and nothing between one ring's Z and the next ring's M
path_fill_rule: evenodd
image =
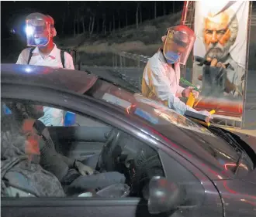
M205 19L204 42L207 51L207 57L223 59L229 53L231 32L229 29L230 17L227 12L213 16L209 13Z

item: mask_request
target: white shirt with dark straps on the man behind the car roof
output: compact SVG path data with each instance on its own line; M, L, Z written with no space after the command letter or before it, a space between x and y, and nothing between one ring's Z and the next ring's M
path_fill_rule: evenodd
M31 48L26 48L22 50L16 64L26 65L28 63L30 49ZM32 53L33 55L31 56L29 65L63 68L61 63L61 49L58 49L55 44L54 49L46 56L40 53L38 47L36 47ZM67 70L74 70L73 58L67 52L64 52L64 66ZM46 126L63 126L63 110L43 107L43 111L44 116L39 119L43 124Z

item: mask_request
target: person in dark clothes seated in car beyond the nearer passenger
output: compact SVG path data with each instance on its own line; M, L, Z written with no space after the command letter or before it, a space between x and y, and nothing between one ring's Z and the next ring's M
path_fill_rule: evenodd
M40 155L40 165L43 169L54 174L67 195L86 192L88 189L100 189L109 185L124 184L125 176L119 172L99 173L95 171L96 164L91 164L93 168L86 165L90 158L85 161L77 161L67 158L55 150L54 141L52 141L47 127L38 120L43 116L43 106L30 105L29 103L6 103L12 111L12 115L19 121L19 128L23 134L39 135L34 145L30 158ZM99 156L92 156L95 159ZM95 162L95 161L92 161Z

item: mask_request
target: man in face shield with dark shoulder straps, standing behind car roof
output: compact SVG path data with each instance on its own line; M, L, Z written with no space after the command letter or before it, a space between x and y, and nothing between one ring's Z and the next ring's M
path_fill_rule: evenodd
M28 64L36 66L52 66L74 70L72 56L62 53L54 44L54 36L57 35L54 28L54 19L50 15L32 13L26 17L27 46L19 54L16 64ZM64 63L62 63L64 59ZM45 115L40 119L43 124L50 126L63 125L63 110L44 107Z

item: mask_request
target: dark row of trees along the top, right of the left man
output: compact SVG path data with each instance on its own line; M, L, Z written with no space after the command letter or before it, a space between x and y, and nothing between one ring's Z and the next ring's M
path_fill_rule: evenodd
M63 2L64 13L57 25L61 34L107 35L162 15L179 12L183 2ZM61 22L61 25L60 25ZM61 29L60 29L61 28ZM71 32L72 31L72 32Z

